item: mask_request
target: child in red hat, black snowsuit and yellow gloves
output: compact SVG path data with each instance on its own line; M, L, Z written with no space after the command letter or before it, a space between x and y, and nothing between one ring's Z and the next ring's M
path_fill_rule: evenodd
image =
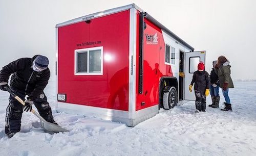
M204 70L204 63L202 61L198 64L198 70L193 74L193 79L189 85L190 92L192 92L192 86L194 83L196 112L205 112L206 96L208 96L210 92L210 78L208 72Z

